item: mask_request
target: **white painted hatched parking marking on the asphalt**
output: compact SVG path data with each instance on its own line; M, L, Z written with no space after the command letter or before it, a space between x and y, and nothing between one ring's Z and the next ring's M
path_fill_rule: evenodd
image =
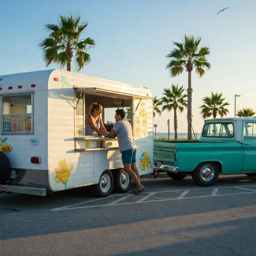
M91 200L87 200L78 204L71 204L71 205L66 205L64 207L58 207L55 209L50 209L50 211L61 211L61 210L71 210L71 209L82 209L82 208L95 208L95 207L106 207L106 206L115 206L115 205L125 205L125 204L142 204L142 203L151 203L151 202L161 202L161 201L174 201L174 200L184 200L184 199L193 199L193 198L207 198L207 197L216 197L216 196L225 196L225 195L241 195L241 194L252 194L256 193L256 190L254 189L248 189L245 188L247 186L256 186L256 185L244 185L244 186L226 186L226 187L217 187L217 188L199 188L199 189L177 189L177 190L168 190L168 191L157 191L157 192L148 192L148 193L143 193L143 194L148 194L145 195L143 198L140 198L137 200L137 196L130 195L130 194L115 194L115 195L110 195L107 198L95 198ZM225 194L217 194L219 189L228 189L228 188L235 188L235 189L244 189L244 190L250 190L250 192L240 192L240 193L225 193ZM199 196L192 196L192 197L185 197L190 191L196 191L196 190L208 190L212 189L211 195L199 195ZM150 198L152 195L158 194L158 193L166 193L166 192L182 192L177 198L166 198L166 199L156 199L156 200L148 200L145 201L146 199ZM104 201L104 199L109 198L114 198L116 196L121 196L121 198L108 203L108 204L97 204L97 205L87 205L87 206L80 206L81 204L88 204L96 201ZM119 203L127 198L134 198L134 202L123 202Z

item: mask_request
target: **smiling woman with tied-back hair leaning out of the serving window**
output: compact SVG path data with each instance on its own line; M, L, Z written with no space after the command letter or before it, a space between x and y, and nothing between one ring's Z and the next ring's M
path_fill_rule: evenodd
M85 122L85 136L86 135L108 135L105 126L103 125L101 113L102 105L96 102L90 105L90 115L87 116Z

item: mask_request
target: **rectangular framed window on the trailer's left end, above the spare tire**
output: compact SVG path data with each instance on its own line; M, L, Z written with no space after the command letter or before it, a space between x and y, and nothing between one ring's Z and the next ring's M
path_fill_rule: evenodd
M33 93L6 95L1 98L1 133L33 133Z

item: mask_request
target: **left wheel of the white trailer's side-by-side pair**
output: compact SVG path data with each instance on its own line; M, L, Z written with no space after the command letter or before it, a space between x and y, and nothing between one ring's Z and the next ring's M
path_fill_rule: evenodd
M113 190L113 175L111 171L105 171L99 179L99 183L93 186L94 194L98 197L106 197Z

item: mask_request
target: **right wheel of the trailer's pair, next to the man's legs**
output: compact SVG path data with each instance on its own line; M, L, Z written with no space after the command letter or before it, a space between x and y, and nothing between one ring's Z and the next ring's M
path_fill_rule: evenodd
M118 193L125 193L130 189L131 178L124 169L113 173L114 177L114 191Z

